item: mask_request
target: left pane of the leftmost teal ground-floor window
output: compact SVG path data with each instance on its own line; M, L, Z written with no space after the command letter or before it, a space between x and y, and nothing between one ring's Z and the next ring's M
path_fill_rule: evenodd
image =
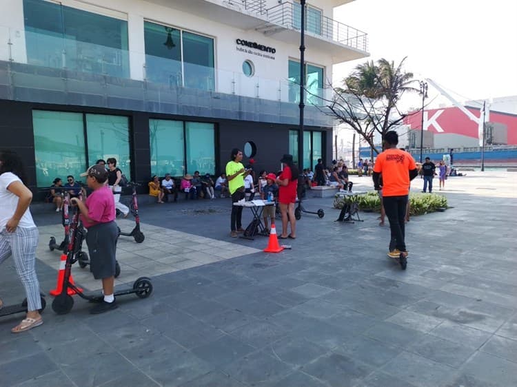
M68 175L79 180L88 167L83 114L34 110L32 124L37 187L49 187L54 178Z

